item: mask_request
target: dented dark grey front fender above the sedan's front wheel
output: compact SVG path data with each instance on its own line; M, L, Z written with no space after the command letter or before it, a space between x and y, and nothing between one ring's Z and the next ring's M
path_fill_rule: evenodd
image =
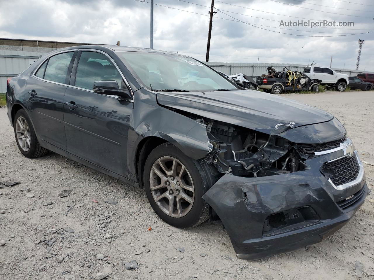
M206 125L157 104L149 91L137 91L128 136L128 171L136 174L139 143L156 136L174 144L192 159L201 159L212 150Z

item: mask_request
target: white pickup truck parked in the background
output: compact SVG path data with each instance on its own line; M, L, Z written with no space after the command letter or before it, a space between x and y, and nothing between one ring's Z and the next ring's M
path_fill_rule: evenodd
M344 91L349 84L349 76L340 74L328 67L306 66L304 73L313 80L320 80L321 85L327 88L336 88L337 91Z

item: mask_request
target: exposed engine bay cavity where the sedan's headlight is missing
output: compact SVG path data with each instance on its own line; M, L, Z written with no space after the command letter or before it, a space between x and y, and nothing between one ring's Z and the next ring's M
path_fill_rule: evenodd
M304 169L296 146L282 137L218 121L203 122L214 146L205 161L214 164L221 173L261 177Z

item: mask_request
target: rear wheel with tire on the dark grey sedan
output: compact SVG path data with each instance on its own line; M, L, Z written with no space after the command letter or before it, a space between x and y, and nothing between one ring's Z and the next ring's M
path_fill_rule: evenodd
M46 148L40 146L33 124L24 109L16 113L13 128L18 149L25 157L39 158L48 152Z

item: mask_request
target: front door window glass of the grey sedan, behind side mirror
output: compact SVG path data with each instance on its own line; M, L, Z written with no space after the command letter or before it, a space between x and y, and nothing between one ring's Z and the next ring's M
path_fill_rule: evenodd
M75 86L92 90L93 83L96 81L117 81L121 87L122 77L107 56L96 52L82 52Z

